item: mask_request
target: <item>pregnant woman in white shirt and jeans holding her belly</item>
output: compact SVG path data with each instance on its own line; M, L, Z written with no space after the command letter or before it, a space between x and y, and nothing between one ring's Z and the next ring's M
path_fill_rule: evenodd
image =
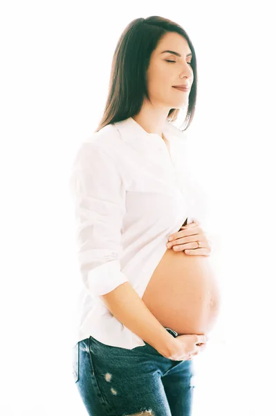
M82 276L73 375L89 415L192 413L192 358L219 312L187 169L195 103L184 29L158 16L131 21L104 115L71 175ZM172 123L182 108L185 130Z

